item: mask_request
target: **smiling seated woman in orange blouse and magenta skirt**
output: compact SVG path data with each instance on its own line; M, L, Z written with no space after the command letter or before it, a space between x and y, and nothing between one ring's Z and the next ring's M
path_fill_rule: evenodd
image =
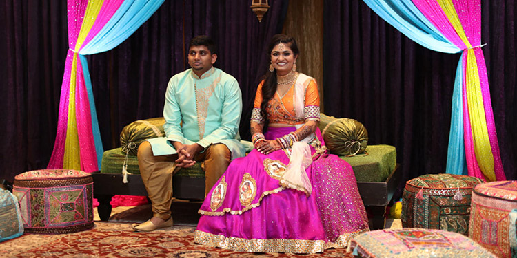
M234 160L208 193L194 241L247 252L345 248L368 230L354 172L327 155L318 87L296 72L296 41L277 34L268 54L252 113L255 149Z

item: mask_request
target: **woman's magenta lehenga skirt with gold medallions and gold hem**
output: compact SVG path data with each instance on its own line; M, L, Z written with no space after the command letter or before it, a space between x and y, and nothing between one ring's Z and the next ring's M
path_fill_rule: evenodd
M270 127L265 138L294 130ZM319 130L316 136L321 142ZM369 230L352 166L310 149L308 196L279 183L289 163L286 150L264 155L254 149L233 160L199 209L194 242L244 252L314 253L345 248Z

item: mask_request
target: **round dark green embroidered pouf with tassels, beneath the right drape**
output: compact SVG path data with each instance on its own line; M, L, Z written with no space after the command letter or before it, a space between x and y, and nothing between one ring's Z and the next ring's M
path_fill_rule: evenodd
M420 175L407 181L402 195L402 226L468 235L472 189L482 182L451 174Z

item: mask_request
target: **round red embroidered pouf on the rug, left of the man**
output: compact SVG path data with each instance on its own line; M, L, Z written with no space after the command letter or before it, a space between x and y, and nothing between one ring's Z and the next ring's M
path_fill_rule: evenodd
M28 171L14 177L23 227L31 233L72 233L92 228L93 180L67 169Z

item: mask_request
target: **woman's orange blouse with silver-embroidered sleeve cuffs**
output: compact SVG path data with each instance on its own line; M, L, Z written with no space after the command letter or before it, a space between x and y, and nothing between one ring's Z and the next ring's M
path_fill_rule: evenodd
M261 81L259 87L256 89L255 103L252 111L252 122L258 122L259 124L264 122L264 118L261 116L261 103L262 103L262 85L264 80ZM278 92L275 92L274 97L271 98L267 103L266 114L270 120L270 123L285 124L285 125L301 125L306 121L320 120L320 95L318 92L318 85L316 80L312 79L307 85L305 90L305 107L303 107L304 117L296 117L296 107L294 106L294 89L296 85L292 85L289 90L280 96Z

